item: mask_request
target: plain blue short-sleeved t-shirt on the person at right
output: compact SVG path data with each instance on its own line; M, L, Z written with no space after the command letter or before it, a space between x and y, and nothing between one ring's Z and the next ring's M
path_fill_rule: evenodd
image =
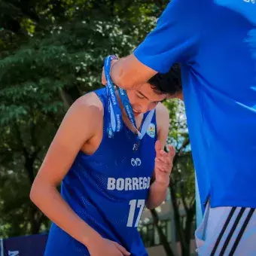
M181 63L202 204L256 208L254 0L172 0L134 54L162 73Z

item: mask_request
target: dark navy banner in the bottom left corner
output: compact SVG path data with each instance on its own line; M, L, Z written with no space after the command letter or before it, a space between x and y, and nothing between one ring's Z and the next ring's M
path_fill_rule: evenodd
M4 239L3 256L43 256L46 242L47 234ZM0 256L2 256L1 253Z

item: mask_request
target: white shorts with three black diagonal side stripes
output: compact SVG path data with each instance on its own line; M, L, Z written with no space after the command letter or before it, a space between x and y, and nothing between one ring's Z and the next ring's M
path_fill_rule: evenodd
M200 256L256 256L256 210L208 203L195 236Z

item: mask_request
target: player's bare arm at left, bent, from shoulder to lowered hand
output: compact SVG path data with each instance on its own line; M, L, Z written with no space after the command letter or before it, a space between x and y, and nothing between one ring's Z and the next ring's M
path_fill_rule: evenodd
M86 245L90 252L98 253L102 247L107 251L106 255L129 255L121 246L117 249L119 245L102 239L96 230L79 218L56 188L69 172L78 151L86 146L99 130L102 111L102 103L94 93L82 96L72 105L47 151L32 185L30 198L51 221Z

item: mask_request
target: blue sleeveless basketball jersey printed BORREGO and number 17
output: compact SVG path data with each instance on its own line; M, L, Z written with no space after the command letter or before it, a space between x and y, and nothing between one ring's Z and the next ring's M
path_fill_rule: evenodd
M154 171L156 114L139 149L133 151L136 135L127 126L114 138L108 138L105 88L94 93L104 106L102 142L93 155L78 153L62 181L61 194L76 214L102 237L123 245L133 256L145 256L148 253L137 227ZM90 254L81 242L52 224L44 255Z

